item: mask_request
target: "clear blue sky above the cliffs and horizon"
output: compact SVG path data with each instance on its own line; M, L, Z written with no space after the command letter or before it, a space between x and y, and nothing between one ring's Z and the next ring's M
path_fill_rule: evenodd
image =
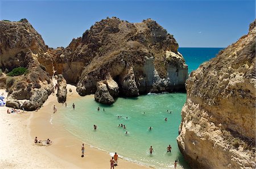
M179 47L227 47L248 32L255 0L241 1L2 1L0 19L27 18L49 47L67 47L95 22L117 16L151 18Z

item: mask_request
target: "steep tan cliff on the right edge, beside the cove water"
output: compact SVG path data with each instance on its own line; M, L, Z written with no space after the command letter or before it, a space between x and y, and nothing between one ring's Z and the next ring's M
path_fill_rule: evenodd
M254 21L186 82L177 142L193 168L256 167L255 34Z

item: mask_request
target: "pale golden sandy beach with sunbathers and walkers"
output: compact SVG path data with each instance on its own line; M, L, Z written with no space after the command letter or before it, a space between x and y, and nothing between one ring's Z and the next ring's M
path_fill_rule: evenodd
M69 92L69 88L72 92ZM67 100L81 97L76 87L68 84ZM0 90L7 97L5 90ZM93 95L87 96L92 97ZM50 95L47 102L38 111L7 114L8 107L1 107L1 168L108 168L110 155L85 144L85 157L81 157L82 141L68 133L64 126L51 124L51 118L57 118L61 112L53 113L57 103L56 95ZM69 105L71 106L71 105ZM50 146L38 146L39 140L53 141ZM114 150L113 150L114 151ZM118 152L117 152L118 153ZM148 168L139 164L118 160L115 168Z

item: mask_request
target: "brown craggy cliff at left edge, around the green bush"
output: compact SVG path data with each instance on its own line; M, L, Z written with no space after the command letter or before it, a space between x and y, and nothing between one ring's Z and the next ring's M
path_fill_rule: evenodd
M53 85L39 60L52 58L47 50L42 37L26 19L0 21L1 69L6 73L15 67L28 69L27 74L6 78L7 106L35 110L46 101Z

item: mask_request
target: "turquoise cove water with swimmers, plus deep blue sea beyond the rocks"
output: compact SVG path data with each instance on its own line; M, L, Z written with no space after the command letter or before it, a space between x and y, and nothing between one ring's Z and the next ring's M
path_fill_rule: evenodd
M190 73L221 49L180 48L179 51ZM156 168L173 168L178 160L178 167L189 168L176 141L185 100L185 93L147 94L137 98L118 98L108 106L95 102L93 98L81 98L68 101L67 108L60 108L63 116L53 122L63 124L80 140L111 155L117 152L124 159ZM71 107L73 103L75 109ZM125 125L126 129L119 124ZM97 130L93 125L97 125ZM148 130L150 126L152 129ZM172 146L171 153L167 153L168 145ZM154 149L152 154L148 150L150 146Z

